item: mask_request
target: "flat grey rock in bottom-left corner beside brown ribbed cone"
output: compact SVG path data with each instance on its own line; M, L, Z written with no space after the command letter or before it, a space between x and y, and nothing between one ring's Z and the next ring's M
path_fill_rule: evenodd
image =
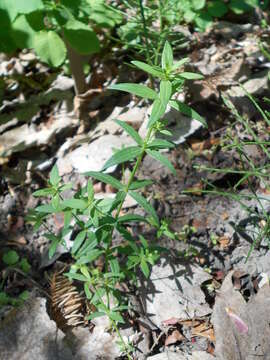
M11 310L0 323L1 360L72 360L64 334L46 311L46 300L36 298Z

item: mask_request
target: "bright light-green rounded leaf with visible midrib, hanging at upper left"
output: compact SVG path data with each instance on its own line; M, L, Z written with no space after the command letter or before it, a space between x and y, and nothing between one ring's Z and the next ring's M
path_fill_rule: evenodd
M34 49L40 59L50 66L60 66L66 58L66 47L55 31L39 31L34 38Z

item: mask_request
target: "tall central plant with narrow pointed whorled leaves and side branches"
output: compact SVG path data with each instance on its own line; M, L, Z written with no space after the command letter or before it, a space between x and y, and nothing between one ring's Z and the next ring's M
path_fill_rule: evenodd
M88 180L87 185L77 191L73 197L64 199L62 193L72 188L72 185L62 182L56 166L50 173L48 187L34 193L35 196L50 197L49 203L38 206L30 216L30 219L35 222L35 229L38 229L41 224L46 226L47 216L55 213L64 214L64 225L60 233L53 234L49 231L45 234L51 241L50 257L53 256L59 244L67 247L65 236L73 228L78 229L70 249L73 264L66 276L83 283L85 295L96 309L88 319L103 315L109 317L111 326L118 334L121 347L128 358L131 358L131 349L129 344L124 342L119 331L119 324L124 323L122 313L127 309L118 290L119 284L129 281L136 285L136 272L139 270L148 277L150 266L160 256L159 248L151 246L143 236L139 236L139 239L135 238L127 227L127 224L132 222L147 222L155 227L159 234L161 231L160 221L154 208L138 192L139 189L152 182L151 180L137 180L136 174L145 154L160 161L175 174L173 165L161 152L164 149L173 148L174 144L156 137L158 133L169 134L162 121L168 106L203 122L200 115L189 106L174 99L174 95L182 89L185 79L201 78L201 75L194 73L179 72L179 68L186 61L187 59L183 59L174 64L171 46L166 42L160 67L133 62L135 66L160 80L159 92L141 84L126 83L111 86L112 90L125 91L153 101L145 138L141 138L130 125L116 120L117 124L132 138L135 145L114 153L105 163L102 171L89 171L85 174L117 189L114 199L96 199L91 180ZM121 182L104 172L112 166L126 162L133 164L127 182ZM127 195L143 207L148 217L136 214L122 215L122 207ZM113 241L115 233L122 238L121 243L116 244ZM96 266L98 259L103 263L102 267Z

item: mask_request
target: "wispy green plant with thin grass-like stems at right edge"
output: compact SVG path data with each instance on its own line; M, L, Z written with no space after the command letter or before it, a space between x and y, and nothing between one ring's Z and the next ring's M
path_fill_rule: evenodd
M208 170L212 173L223 173L227 174L227 176L232 175L238 177L236 183L228 190L220 189L206 181L206 188L202 192L228 197L235 202L238 202L246 211L247 217L250 219L249 226L242 229L239 225L235 227L235 230L244 231L246 235L250 237L251 246L247 253L247 261L253 249L259 247L262 241L268 243L270 249L269 198L264 195L263 192L258 191L258 185L265 189L266 193L270 191L270 141L265 138L265 128L270 126L270 112L263 110L255 98L247 93L243 86L242 90L260 113L262 121L260 127L257 127L256 124L252 124L247 116L242 116L233 103L227 97L223 96L225 105L236 119L235 125L241 127L241 138L235 135L232 136L229 131L223 145L223 151L233 150L235 152L235 156L238 158L237 167L234 169L196 167L201 170ZM270 103L269 99L264 100L266 103ZM247 151L248 146L254 146L257 151L261 152L262 159L259 163L254 160L252 153ZM241 192L243 186L246 187L248 192ZM252 204L250 204L250 201L252 201Z

